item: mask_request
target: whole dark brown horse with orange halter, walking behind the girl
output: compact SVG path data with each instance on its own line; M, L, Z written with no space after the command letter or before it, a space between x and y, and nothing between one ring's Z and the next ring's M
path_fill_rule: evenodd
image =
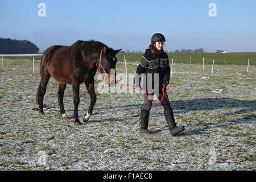
M60 114L67 118L63 106L63 95L67 84L72 84L73 100L75 105L75 124L81 124L77 113L79 98L79 87L85 82L90 96L90 106L83 120L88 121L94 104L96 94L94 91L94 76L97 68L101 73L108 75L108 84L115 84L115 74L110 75L110 69L115 69L117 59L115 55L121 51L108 48L105 44L96 41L77 41L72 46L52 46L43 54L40 63L40 84L36 97L39 104L39 113L43 114L43 98L50 77L59 82L57 97L59 100Z

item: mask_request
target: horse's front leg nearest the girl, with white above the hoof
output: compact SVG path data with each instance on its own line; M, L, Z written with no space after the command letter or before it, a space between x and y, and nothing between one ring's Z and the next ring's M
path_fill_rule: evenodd
M89 106L87 113L82 118L84 120L84 122L89 120L90 115L92 114L92 111L93 111L93 107L97 100L96 93L94 90L94 80L85 82L85 85L86 85L86 88L87 88L89 96L90 96L90 106Z

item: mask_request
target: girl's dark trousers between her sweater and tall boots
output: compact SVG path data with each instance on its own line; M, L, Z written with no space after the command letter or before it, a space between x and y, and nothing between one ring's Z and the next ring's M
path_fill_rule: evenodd
M148 97L151 98L151 100L153 100L154 93L148 93L147 92L147 95L148 95ZM152 101L148 97L144 95L143 109L145 109L145 110L150 110L151 106L152 106ZM161 90L161 91L159 91L159 96L158 96L159 101L162 100L162 97L163 97L163 91ZM164 110L171 109L170 101L169 101L169 98L168 98L168 95L167 95L166 91L164 91L164 98L163 98L163 101L161 102L161 104L164 107Z

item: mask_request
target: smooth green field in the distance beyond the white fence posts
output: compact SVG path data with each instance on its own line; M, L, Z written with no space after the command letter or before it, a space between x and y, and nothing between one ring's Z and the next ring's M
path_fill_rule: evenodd
M117 60L123 61L123 55L126 55L127 61L140 61L143 53L118 53ZM40 60L42 56L4 56L4 59L28 59ZM169 60L174 59L175 63L189 64L242 64L247 65L250 59L250 65L256 65L256 52L233 52L233 53L168 53Z

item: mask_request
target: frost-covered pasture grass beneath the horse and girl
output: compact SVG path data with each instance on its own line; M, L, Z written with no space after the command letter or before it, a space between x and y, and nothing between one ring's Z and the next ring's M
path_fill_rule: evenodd
M246 72L240 65L214 65L212 77L211 65L174 63L167 93L185 131L171 137L163 107L156 104L149 120L154 134L139 134L143 94L128 92L97 93L89 122L76 126L71 86L64 93L69 119L62 119L52 78L44 97L48 107L39 115L39 69L33 75L31 63L5 61L0 72L0 170L255 170L253 66ZM127 72L135 73L138 64L128 63ZM125 73L123 63L117 68ZM88 107L81 84L81 121Z

